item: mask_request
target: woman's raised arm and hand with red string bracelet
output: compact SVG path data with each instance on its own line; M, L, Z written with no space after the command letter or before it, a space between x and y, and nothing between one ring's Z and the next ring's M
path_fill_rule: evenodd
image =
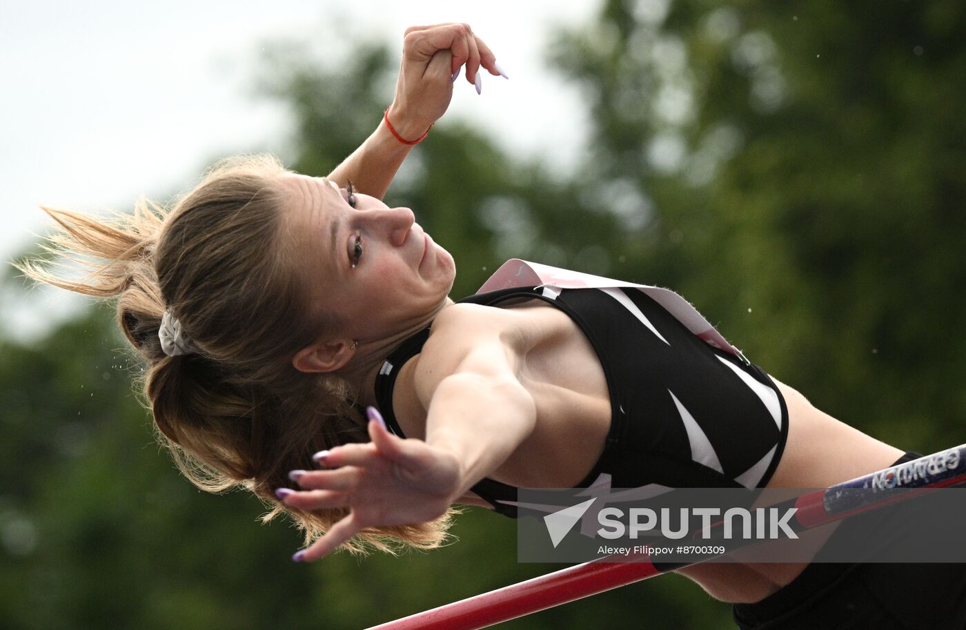
M388 118L404 140L420 138L445 113L453 96L453 80L466 64L472 83L482 66L499 74L493 52L468 24L412 26L403 40L403 60ZM352 180L355 189L382 199L412 145L400 142L380 121L365 142L328 174L340 187Z

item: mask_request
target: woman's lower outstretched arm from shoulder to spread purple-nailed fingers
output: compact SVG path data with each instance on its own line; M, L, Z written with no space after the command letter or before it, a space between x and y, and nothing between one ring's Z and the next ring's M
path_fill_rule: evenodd
M424 346L424 355L433 341L431 337ZM452 341L440 339L438 345ZM322 461L330 470L298 475L302 491L286 491L286 505L303 510L348 507L350 513L297 559L323 558L366 528L440 517L532 433L536 406L517 379L521 355L498 335L464 347L469 351L445 353L454 364L447 365L446 358L426 361L424 356L416 367L416 395L429 403L425 441L391 435L372 410L372 442L336 446Z

